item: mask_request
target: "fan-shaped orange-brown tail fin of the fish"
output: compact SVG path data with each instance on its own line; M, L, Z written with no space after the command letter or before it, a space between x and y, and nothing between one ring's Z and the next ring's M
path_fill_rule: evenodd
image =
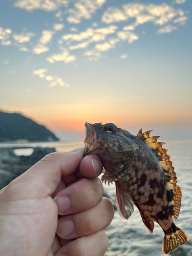
M179 246L179 244L182 245L186 243L188 239L189 238L187 234L185 234L180 228L177 227L177 230L175 233L172 233L170 235L165 234L161 253L167 254L173 251L175 248Z

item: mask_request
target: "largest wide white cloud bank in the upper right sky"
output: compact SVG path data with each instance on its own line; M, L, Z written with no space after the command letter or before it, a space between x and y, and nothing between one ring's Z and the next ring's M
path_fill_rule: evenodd
M182 1L182 0L176 0ZM122 22L135 18L135 23L129 26L123 27L123 30L134 30L137 26L153 22L154 25L165 25L169 22L185 24L187 17L181 9L175 9L167 4L155 5L155 4L127 4L123 5L121 9L117 7L108 7L108 9L102 15L102 22L111 24L114 22Z

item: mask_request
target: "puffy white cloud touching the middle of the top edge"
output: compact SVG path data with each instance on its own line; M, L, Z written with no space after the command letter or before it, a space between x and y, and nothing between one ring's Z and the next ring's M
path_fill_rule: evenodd
M82 18L90 19L92 14L99 8L101 8L106 0L78 0L74 4L73 9L69 9L69 16L67 21L69 23L78 24Z

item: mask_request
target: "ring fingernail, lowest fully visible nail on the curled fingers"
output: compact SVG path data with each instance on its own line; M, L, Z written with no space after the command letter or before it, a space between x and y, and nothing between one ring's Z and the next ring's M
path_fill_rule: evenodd
M75 231L72 220L61 219L57 224L57 234L61 238L67 238Z

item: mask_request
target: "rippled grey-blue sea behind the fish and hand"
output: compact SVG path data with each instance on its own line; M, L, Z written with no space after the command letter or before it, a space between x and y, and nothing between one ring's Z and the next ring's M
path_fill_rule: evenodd
M27 148L23 148L23 147ZM0 143L1 147L17 147L16 155L30 155L33 147L55 147L58 152L71 151L83 146L83 141L68 142L34 142L34 143ZM177 173L177 181L182 187L182 204L178 220L175 224L189 236L189 241L179 246L168 255L192 256L192 140L166 140L164 148L172 156L173 166ZM115 203L115 185L103 184L105 193ZM153 234L144 226L136 206L129 220L123 220L115 211L111 225L105 228L109 244L105 256L160 256L164 233L155 223Z

